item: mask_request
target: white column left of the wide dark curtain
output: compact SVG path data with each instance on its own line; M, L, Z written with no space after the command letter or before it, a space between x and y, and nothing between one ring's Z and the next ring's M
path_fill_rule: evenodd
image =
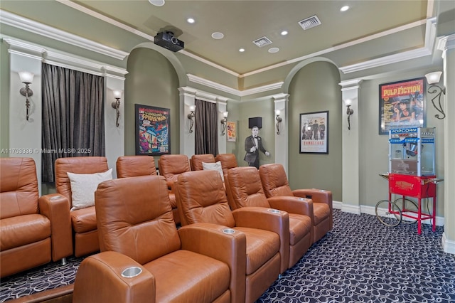
M41 61L44 48L21 41L5 38L9 44L9 156L31 157L35 160L38 190L41 194ZM21 83L18 72L34 74L29 85L33 95L30 101L29 117L26 119L26 97L19 90Z

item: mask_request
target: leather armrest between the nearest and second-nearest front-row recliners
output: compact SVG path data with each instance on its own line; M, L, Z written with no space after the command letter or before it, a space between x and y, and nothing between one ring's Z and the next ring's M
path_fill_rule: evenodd
M179 228L178 235L180 235L183 250L191 250L201 255L213 257L229 266L231 302L244 302L247 266L247 238L245 234L238 230L232 230L228 226L194 223Z

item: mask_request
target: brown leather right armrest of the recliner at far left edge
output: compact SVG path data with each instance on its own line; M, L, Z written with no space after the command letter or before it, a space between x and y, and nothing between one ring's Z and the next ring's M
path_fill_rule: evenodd
M73 255L73 229L71 228L70 201L59 193L38 198L38 207L50 220L52 260L58 261Z

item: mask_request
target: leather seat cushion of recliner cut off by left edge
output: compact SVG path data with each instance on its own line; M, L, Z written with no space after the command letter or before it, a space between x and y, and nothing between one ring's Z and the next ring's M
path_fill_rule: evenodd
M18 248L50 237L50 220L43 215L23 215L0 220L1 250Z

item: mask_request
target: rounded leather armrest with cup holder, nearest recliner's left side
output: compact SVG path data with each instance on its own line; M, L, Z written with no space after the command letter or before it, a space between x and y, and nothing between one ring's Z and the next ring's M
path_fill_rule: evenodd
M131 267L142 271L123 277ZM138 262L119 252L107 251L87 257L80 263L74 284L73 303L155 302L155 277Z

